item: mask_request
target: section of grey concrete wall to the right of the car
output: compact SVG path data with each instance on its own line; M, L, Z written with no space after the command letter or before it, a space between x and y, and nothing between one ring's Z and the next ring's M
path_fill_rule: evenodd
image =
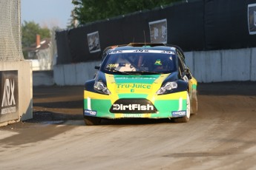
M256 48L185 52L197 81L256 81Z

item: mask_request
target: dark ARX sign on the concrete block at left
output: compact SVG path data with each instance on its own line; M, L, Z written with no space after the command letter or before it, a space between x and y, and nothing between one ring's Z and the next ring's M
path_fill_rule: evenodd
M1 80L1 111L0 118L3 115L19 115L18 101L18 71L0 72ZM16 116L13 116L13 118ZM12 117L12 116L11 116Z

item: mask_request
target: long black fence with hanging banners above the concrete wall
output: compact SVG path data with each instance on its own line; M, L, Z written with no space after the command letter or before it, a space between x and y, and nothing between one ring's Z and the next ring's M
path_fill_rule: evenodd
M96 61L105 47L145 41L184 51L256 47L256 0L188 0L56 32L57 64Z

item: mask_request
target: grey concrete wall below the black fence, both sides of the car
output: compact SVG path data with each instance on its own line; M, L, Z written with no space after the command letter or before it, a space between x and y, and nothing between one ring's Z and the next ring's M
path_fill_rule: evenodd
M256 48L185 52L186 64L198 82L256 81ZM100 61L56 65L57 85L83 85L93 78Z

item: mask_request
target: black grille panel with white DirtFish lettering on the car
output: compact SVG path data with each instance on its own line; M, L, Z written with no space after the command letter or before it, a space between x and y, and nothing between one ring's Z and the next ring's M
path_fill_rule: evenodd
M110 109L112 113L155 113L157 109L145 98L122 98Z

